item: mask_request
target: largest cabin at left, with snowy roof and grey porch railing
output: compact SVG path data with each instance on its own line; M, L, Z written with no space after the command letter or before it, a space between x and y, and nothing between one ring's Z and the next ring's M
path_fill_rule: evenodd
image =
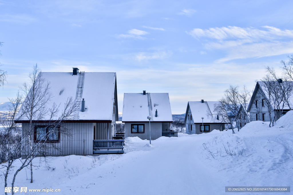
M66 128L70 136L59 132L48 138L50 143L61 150L48 148L47 156L123 153L124 140L113 139L115 122L118 120L116 73L79 72L78 68L73 68L73 72L69 73L41 72L39 76L45 83L49 83L49 92L52 94L45 109L55 104L61 105L61 110L69 97L75 102L70 120L62 121L56 127ZM35 137L39 137L40 128L50 125L46 117L33 121L33 141L40 141L35 140ZM30 128L30 122L25 116L16 122L22 124L23 134ZM26 153L22 153L22 157L25 158Z

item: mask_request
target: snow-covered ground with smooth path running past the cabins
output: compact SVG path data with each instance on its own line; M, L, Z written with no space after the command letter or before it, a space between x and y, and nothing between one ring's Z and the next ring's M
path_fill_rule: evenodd
M48 163L36 158L34 182L30 183L30 171L22 170L16 186L61 189L58 194L127 195L225 194L225 186L292 186L292 118L289 111L274 127L255 121L236 134L179 133L152 140L151 145L128 137L122 155L71 155L47 158Z

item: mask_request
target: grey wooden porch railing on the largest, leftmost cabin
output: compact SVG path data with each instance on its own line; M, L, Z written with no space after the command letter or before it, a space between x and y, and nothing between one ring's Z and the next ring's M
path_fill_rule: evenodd
M123 153L124 140L93 140L93 153L100 153L101 151L117 151Z

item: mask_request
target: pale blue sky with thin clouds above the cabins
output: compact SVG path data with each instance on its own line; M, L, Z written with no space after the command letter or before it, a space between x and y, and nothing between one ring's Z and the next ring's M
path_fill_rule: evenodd
M0 1L1 69L14 97L44 72L116 72L123 93L168 92L173 114L253 89L264 67L293 54L292 1Z

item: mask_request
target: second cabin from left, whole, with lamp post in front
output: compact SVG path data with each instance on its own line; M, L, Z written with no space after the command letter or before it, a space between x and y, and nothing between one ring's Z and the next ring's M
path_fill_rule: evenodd
M148 119L151 116L151 119ZM161 136L177 137L170 131L173 122L168 93L125 93L122 122L125 137L157 139Z

